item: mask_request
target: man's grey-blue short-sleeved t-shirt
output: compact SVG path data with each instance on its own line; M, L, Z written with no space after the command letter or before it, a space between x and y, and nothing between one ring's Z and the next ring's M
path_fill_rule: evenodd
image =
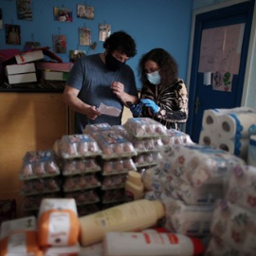
M75 113L75 134L82 134L86 124L103 122L110 125L121 124L123 104L110 89L112 82L123 83L126 93L137 96L135 74L129 65L124 64L118 71L111 71L102 63L100 54L84 56L74 64L65 84L80 90L79 99L89 105L99 106L102 102L121 110L117 118L101 115L95 120L87 119L85 115Z

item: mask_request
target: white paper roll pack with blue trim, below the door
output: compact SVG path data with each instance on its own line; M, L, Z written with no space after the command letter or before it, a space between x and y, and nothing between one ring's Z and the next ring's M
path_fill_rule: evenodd
M248 141L256 134L251 108L205 110L199 144L219 148L247 160Z

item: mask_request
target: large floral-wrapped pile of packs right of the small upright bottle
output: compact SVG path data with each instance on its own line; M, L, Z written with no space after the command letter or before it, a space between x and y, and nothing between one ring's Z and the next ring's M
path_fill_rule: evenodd
M186 235L210 235L214 203L224 195L229 174L246 163L235 155L200 145L165 148L158 165L142 174L145 198L166 207L164 228Z

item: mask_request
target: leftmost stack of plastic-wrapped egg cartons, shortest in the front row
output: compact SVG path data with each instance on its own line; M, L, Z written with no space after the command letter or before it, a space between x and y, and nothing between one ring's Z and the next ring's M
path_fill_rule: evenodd
M43 198L60 197L61 176L57 155L50 149L28 151L19 173L25 216L36 215Z

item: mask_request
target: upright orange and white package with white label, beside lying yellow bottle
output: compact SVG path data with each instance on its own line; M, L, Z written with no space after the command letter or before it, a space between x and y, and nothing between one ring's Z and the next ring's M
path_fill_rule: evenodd
M46 198L38 213L38 241L41 247L76 246L80 223L75 200Z

